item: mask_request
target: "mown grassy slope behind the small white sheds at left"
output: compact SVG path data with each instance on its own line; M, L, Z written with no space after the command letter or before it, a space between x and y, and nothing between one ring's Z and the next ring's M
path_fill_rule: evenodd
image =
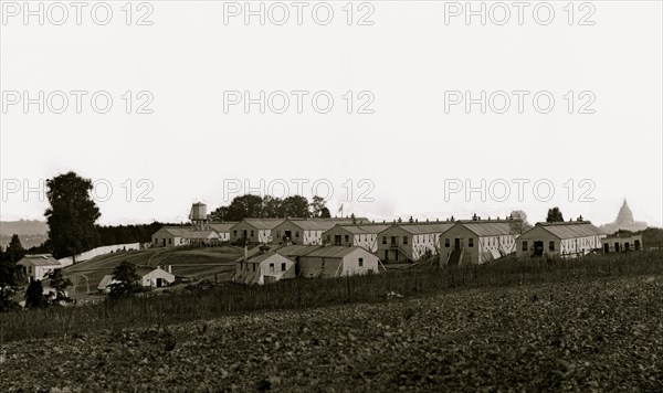
M225 280L232 276L233 262L241 256L241 251L224 246L218 248L150 248L102 255L96 258L64 268L74 287L70 295L83 298L86 294L96 293L102 278L113 274L113 268L123 261L137 266L172 266L176 276L192 277L193 279Z

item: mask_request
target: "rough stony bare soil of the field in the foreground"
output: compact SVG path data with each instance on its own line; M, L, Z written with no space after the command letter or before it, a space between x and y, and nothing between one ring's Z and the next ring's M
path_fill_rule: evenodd
M6 343L0 391L663 392L663 277Z

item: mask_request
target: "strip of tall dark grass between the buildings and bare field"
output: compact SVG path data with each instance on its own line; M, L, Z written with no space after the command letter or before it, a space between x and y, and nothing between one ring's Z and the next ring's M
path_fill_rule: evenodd
M0 342L170 325L259 310L387 301L456 288L501 287L663 274L663 252L589 255L578 259L505 259L481 266L418 268L334 279L292 279L266 286L232 283L162 296L0 315Z

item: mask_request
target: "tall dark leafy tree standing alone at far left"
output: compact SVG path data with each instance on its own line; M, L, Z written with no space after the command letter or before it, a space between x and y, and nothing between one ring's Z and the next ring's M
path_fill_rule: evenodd
M74 172L46 181L51 203L45 212L49 240L56 258L76 255L101 244L95 222L102 215L92 200L92 180Z

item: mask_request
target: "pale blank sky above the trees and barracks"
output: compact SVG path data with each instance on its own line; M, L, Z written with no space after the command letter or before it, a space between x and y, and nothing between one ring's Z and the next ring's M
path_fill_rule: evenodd
M90 2L78 25L43 2L40 25L2 1L0 216L43 219L25 187L74 170L95 180L104 224L182 221L246 185L311 199L315 183L333 214L376 220L536 222L558 205L602 224L625 198L661 226L662 3L527 2L520 23L512 2L484 2L485 25L464 3L264 2L261 25L244 2L135 2L130 18Z

